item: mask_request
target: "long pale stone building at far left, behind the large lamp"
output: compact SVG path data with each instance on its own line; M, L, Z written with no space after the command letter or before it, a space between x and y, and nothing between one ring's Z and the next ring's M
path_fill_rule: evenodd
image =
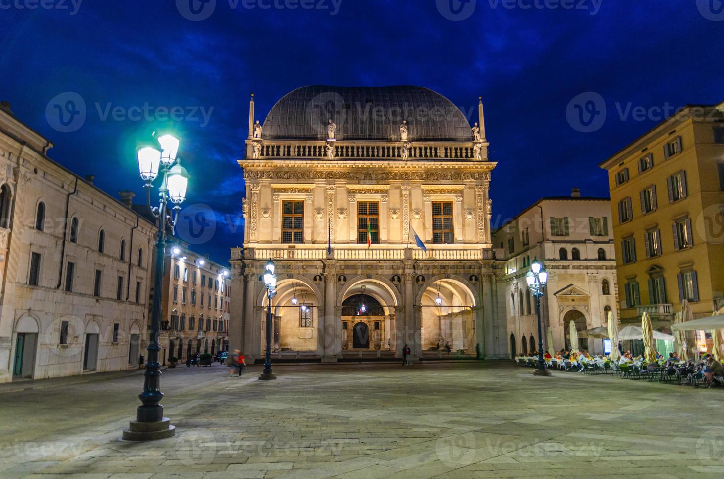
M155 227L0 108L0 382L138 368Z

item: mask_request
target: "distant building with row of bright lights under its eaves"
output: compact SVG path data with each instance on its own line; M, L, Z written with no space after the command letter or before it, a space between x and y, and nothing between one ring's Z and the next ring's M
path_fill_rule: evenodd
M229 348L231 289L228 269L172 240L164 258L161 362Z

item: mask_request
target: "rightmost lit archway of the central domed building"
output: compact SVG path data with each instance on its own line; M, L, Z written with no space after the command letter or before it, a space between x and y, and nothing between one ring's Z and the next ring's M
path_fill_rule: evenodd
M432 281L420 298L422 349L475 350L475 295L463 281L444 278Z

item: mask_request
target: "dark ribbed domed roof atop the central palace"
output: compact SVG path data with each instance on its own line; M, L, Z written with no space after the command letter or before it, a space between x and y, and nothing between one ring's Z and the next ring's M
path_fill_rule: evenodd
M264 139L327 140L327 124L337 140L400 140L408 124L411 141L472 141L470 124L450 100L410 85L334 87L311 85L287 93L264 120Z

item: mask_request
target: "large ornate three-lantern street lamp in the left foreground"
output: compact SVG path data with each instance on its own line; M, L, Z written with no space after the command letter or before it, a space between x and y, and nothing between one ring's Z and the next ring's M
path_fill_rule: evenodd
M167 228L174 232L174 226L186 199L188 172L179 164L176 157L179 140L174 135L157 137L157 144L142 145L138 148L138 170L145 183L146 198L151 213L158 221L156 234L156 269L153 276L153 303L151 306L151 340L148 342L148 360L146 373L143 374L143 392L138 398L143 403L138 407L136 420L123 430L123 438L128 441L153 441L174 436L175 427L168 417L164 417L164 407L160 404L164 394L161 392L161 364L159 363L159 331L161 329L161 291L164 285L164 255L166 253ZM160 149L159 149L160 146ZM151 206L151 188L153 180L161 173L159 205ZM169 211L171 208L171 211ZM180 253L176 247L174 255Z

